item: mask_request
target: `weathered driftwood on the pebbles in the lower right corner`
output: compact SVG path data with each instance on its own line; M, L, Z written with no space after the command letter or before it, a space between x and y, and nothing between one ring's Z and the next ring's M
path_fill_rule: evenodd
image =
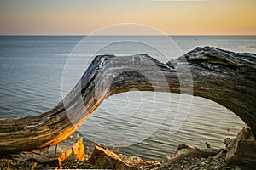
M226 161L230 164L241 165L242 167L253 168L256 167L256 140L249 127L243 127L237 134L235 139L224 139L226 147L224 149L212 148L207 144L207 149L201 149L188 144L179 144L174 157L167 157L166 162L155 167L154 170L160 170L164 167L170 167L175 161L183 160L191 157L212 157L218 160L225 156ZM178 154L179 150L186 149L187 151ZM254 168L253 168L254 169Z

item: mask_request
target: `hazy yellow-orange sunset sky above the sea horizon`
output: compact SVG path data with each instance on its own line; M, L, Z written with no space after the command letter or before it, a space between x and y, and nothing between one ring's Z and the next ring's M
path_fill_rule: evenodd
M137 23L170 35L256 35L256 0L0 0L0 34L85 35Z

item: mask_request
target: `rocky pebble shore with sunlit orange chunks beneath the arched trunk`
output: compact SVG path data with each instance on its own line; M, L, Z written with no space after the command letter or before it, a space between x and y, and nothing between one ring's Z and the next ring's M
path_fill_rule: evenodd
M38 155L36 154L37 152L20 154L20 157L15 157L16 160L1 158L0 169L251 169L248 167L230 165L226 161L225 156L220 156L218 159L215 159L213 156L201 157L200 155L197 157L184 157L173 161L172 164L168 164L168 161L175 159L174 154L173 156L166 156L166 160L145 161L138 156L126 156L122 153L115 154L114 150L108 150L106 146L99 144L94 146L92 152L88 152L88 150L84 151L84 145L81 144L83 142L82 139L83 138L79 137L79 134L76 133L56 147L56 149L58 148L57 153L54 153L55 147L51 147L47 151L38 152ZM67 154L68 150L72 150L72 152ZM79 153L74 153L74 150L81 150L83 153L80 153L79 156ZM149 149L148 151L150 152ZM49 159L50 155L53 157L57 155L58 157L55 156L54 159Z

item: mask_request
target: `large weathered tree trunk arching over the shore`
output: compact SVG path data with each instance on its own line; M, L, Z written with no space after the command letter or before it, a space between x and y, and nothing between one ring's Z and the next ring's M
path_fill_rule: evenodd
M0 120L0 154L58 144L109 95L131 89L167 90L212 99L240 116L256 136L255 73L255 54L210 47L195 48L166 64L145 54L96 56L79 83L55 108L39 116Z

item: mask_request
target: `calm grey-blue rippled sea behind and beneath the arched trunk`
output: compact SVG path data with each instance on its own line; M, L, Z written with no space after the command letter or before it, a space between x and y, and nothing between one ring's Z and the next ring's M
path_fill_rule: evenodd
M149 54L166 63L203 46L256 54L256 36L0 36L0 118L49 111L97 54ZM245 125L209 99L134 89L106 99L78 133L86 150L102 144L128 156L165 160L178 144L222 148Z

